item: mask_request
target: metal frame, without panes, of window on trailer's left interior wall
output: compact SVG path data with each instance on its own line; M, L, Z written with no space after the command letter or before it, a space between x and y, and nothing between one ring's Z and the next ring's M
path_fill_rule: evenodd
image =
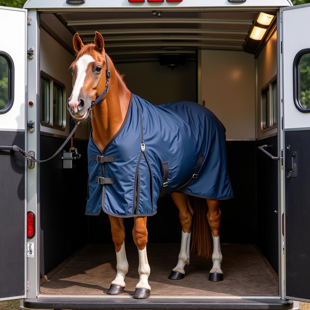
M49 81L48 122L44 122L41 120L41 111L40 111L40 113L39 113L40 124L42 126L45 126L45 127L50 127L50 128L59 129L59 130L64 131L66 128L66 99L65 99L66 98L66 87L65 87L64 83L56 80L55 78L53 78L52 76L50 76L49 74L47 74L41 70L40 71L40 82L41 82L42 77ZM61 125L55 125L54 124L54 115L53 115L53 100L54 100L54 98L53 98L53 95L54 95L53 87L54 87L54 83L57 86L60 86L62 88L62 109L61 109L61 111L62 111L62 117L61 117L62 124ZM40 98L40 95L41 94L39 94L39 98ZM40 101L40 109L41 109L41 101Z

